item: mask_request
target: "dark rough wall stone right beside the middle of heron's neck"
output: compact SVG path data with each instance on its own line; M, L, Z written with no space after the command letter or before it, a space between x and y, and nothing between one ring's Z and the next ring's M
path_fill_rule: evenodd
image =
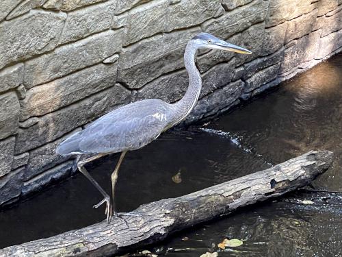
M212 93L218 88L226 86L232 81L235 72L235 58L228 63L221 63L213 66L202 75L202 90L200 98Z

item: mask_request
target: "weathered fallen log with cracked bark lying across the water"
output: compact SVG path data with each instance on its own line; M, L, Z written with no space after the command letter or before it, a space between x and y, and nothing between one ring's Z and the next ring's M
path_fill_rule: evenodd
M122 247L160 241L172 232L306 186L331 163L332 152L309 151L264 171L182 197L144 204L133 215L112 219L109 225L102 221L0 249L0 256L113 256L122 252Z

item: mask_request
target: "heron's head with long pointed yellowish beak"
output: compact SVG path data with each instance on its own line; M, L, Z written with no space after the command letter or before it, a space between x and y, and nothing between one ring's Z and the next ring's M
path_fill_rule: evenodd
M224 40L221 40L220 38L216 38L209 33L200 33L197 36L194 36L192 40L194 41L194 44L197 48L220 49L224 51L232 51L235 53L252 53L247 49L228 43Z

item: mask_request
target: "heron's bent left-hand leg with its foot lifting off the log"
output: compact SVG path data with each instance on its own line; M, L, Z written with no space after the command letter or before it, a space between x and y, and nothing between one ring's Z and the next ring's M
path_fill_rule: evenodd
M83 173L83 175L86 176L86 178L88 178L88 180L90 180L90 182L92 182L92 184L97 188L98 191L100 191L100 193L103 195L103 200L100 201L98 204L94 205L94 208L98 208L98 206L101 206L102 204L106 203L106 210L105 210L105 214L107 214L107 224L109 224L110 222L110 217L111 217L111 203L110 203L110 197L109 195L103 190L103 188L98 184L98 182L96 182L96 180L94 180L94 178L92 178L92 176L88 173L88 171L86 170L86 168L84 167L84 165L87 162L91 162L92 160L96 160L97 158L100 158L101 156L104 156L105 154L99 154L97 156L88 158L86 160L81 160L79 162L77 162L77 167L79 168L79 171L81 171L81 173Z

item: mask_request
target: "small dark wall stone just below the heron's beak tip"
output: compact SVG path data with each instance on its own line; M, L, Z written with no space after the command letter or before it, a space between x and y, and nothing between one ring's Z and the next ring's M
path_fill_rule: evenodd
M255 73L246 80L246 86L244 89L245 93L249 93L250 91L254 90L255 88L258 88L259 86L262 86L263 84L266 84L267 82L272 81L273 79L276 79L280 69L280 62L278 64L274 64L272 66L269 66L266 69L263 69L259 71L258 73Z

